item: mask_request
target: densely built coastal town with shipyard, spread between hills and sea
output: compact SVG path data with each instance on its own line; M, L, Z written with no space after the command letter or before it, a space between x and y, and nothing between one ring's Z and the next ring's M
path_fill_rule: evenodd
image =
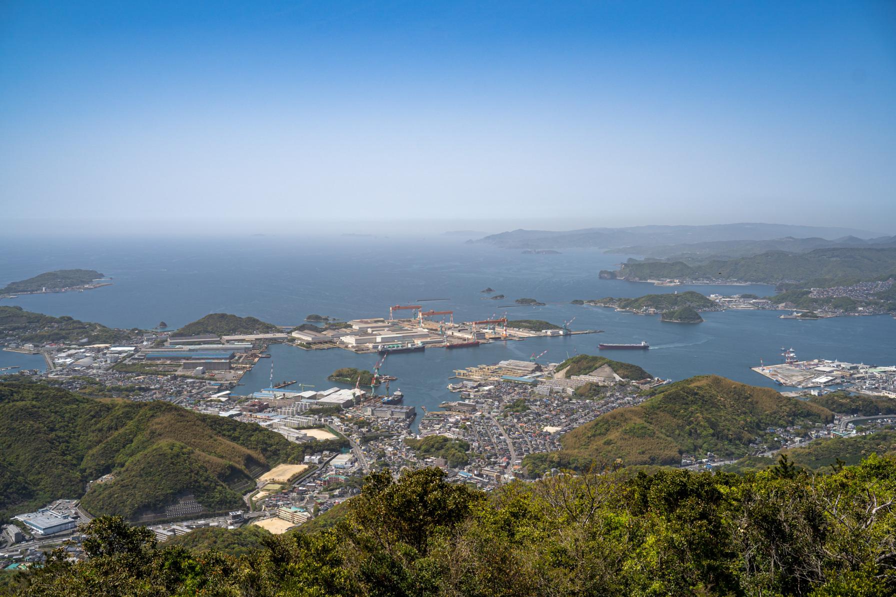
M860 298L862 293L873 294L883 286L885 283L875 283L831 292ZM665 313L682 305L693 305L697 311L793 308L751 295L655 296L579 303L643 315ZM617 408L640 405L651 388L669 383L646 373L623 377L606 363L567 374L568 367L541 362L544 353L533 353L528 361L508 359L452 371L445 379L446 390L457 399L443 401L438 409L407 405L400 391L390 393L389 382L395 378L378 371L389 354L464 349L600 330L573 330L573 320L554 325L541 320L508 320L505 316L455 323L452 311L425 311L420 305L393 305L389 311L389 317L344 322L314 316L300 326L256 329L253 333L184 334L165 329L87 327L83 328L86 336L78 337L82 328L75 328L59 340L49 339L54 337L52 330L68 329L72 324L50 318L7 332L2 338L4 350L42 355L45 371L9 367L0 374L42 381L86 396L168 402L194 413L258 425L293 444L309 447L301 464L278 465L259 474L254 486L242 487L242 508L210 512L186 495L144 516L140 522L151 525L159 542L197 529L245 525L285 533L357 495L366 474L379 470L401 473L435 466L444 471L448 481L482 490L529 481L538 476L530 472L534 462L531 457L561 451L564 434ZM411 311L412 316L396 317L401 311ZM91 342L90 337L98 334L114 337L116 342ZM269 387L246 393L241 380L246 372L271 357L269 350L274 344L308 351L340 348L372 354L379 364L369 386L361 385L358 377L355 383L340 378L332 388L309 388L301 380L274 380L271 371ZM809 397L849 388L867 396L896 397L896 367L800 362L792 350L782 353L782 361L761 363L754 371L792 388L783 392L785 396ZM851 437L889 426L892 419L838 416L833 422L814 427L769 429L765 439L750 446L750 456L770 456L816 439ZM734 462L711 453L685 454L680 466L706 470ZM538 471L550 473L550 468ZM91 483L109 481L114 481L114 475L104 475ZM82 557L82 535L77 525L90 520L90 514L77 499L57 500L33 512L16 513L16 520L21 524L7 525L3 530L0 561L6 567L39 562L47 547L53 545L65 544L71 557Z

